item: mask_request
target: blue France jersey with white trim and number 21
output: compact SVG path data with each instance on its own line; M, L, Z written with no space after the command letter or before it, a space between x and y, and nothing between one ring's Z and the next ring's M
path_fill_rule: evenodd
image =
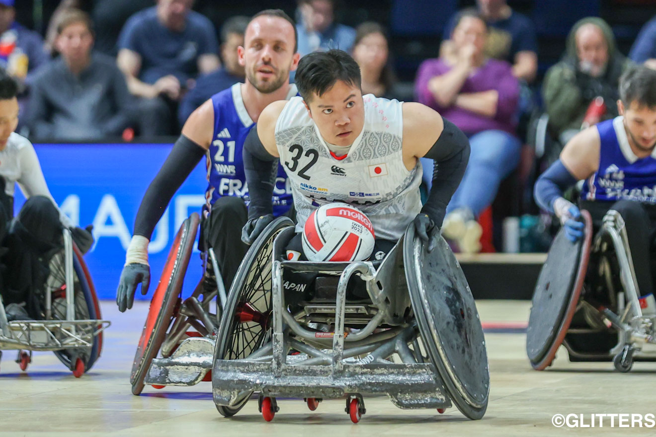
M291 85L287 99L297 95L296 85ZM249 202L248 187L244 174L241 151L246 136L255 126L241 98L241 84L212 96L214 105L214 133L207 151L207 191L205 212L223 196L241 197ZM276 185L272 198L274 216L285 214L291 205L291 187L285 170L278 165Z

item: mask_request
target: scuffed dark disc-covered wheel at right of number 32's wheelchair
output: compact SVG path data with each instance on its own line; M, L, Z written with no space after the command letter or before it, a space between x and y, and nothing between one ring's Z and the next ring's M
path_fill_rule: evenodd
M453 403L466 417L487 409L489 368L474 297L447 242L429 254L410 225L403 262L413 312L428 358Z

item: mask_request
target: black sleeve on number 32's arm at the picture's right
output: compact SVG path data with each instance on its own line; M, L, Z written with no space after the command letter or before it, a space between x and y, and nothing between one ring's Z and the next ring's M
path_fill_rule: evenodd
M447 119L440 138L430 148L425 158L433 159L433 186L428 200L421 209L441 227L451 196L460 185L469 161L469 140L462 130Z

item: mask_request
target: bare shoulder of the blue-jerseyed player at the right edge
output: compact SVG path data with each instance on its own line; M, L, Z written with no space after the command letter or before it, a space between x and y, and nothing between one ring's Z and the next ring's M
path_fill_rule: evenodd
M573 136L560 153L560 161L575 178L589 178L598 170L602 140L596 126Z

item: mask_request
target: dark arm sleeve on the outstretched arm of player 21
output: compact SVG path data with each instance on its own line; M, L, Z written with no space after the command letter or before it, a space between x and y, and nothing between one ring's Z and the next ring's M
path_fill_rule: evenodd
M205 156L205 149L184 135L173 145L169 157L148 186L144 199L134 221L134 235L142 235L150 240L155 225L169 206L171 197L182 182L194 170L196 164Z

